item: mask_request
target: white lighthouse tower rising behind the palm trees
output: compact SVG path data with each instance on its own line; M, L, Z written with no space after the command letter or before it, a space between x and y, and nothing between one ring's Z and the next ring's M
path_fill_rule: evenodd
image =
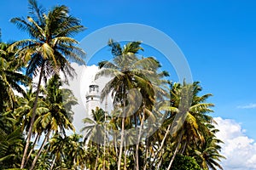
M86 94L86 113L91 116L91 110L95 110L96 107L100 107L100 93L99 86L96 83L92 83L89 86L89 92Z

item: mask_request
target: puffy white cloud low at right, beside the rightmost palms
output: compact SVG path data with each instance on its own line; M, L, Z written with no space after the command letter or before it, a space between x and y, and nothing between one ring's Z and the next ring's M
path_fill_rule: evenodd
M221 154L226 157L221 164L225 170L256 170L256 143L244 133L241 124L221 117L214 118L218 122L218 139L224 144Z

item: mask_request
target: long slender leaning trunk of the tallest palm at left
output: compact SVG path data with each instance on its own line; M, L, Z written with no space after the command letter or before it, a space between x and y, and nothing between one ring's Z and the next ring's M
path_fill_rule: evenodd
M25 150L24 150L24 153L23 153L23 156L22 156L20 169L23 169L25 167L26 153L27 153L27 150L28 150L28 147L29 147L29 144L30 144L30 139L32 137L32 127L33 127L34 122L35 122L36 110L37 110L37 107L38 107L38 95L39 95L40 86L41 86L43 73L44 73L44 63L45 63L45 61L43 61L43 64L42 64L41 70L40 70L40 76L39 76L39 81L38 81L36 99L35 99L35 103L34 103L34 106L33 106L33 109L32 109L32 119L31 119L30 126L29 126L28 133L27 133L26 146L25 146Z

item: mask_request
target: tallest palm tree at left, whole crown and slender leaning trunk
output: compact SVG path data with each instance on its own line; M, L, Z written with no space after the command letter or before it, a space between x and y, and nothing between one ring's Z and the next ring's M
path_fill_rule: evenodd
M15 23L21 30L26 31L32 38L14 42L9 48L10 50L19 48L17 54L22 55L20 58L25 62L29 60L26 75L32 77L39 73L32 121L27 134L26 148L20 168L24 167L26 160L42 78L59 71L73 77L74 71L67 59L84 63L79 57L79 55L84 54L83 50L74 46L78 42L71 38L79 31L83 31L84 26L81 26L80 21L69 14L68 8L63 5L55 6L45 14L44 9L38 6L36 0L29 0L29 5L32 16L28 16L26 20L24 18L13 18L11 22Z

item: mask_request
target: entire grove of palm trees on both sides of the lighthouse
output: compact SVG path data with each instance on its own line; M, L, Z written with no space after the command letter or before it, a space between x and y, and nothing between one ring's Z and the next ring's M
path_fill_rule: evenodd
M141 42L109 40L113 61L96 78L112 77L101 98L111 94L113 111L96 108L74 133L77 100L62 83L72 61L84 64L73 39L84 26L66 6L28 2L31 16L11 22L30 38L0 43L0 169L222 169L211 94L170 82L157 59L137 55Z

